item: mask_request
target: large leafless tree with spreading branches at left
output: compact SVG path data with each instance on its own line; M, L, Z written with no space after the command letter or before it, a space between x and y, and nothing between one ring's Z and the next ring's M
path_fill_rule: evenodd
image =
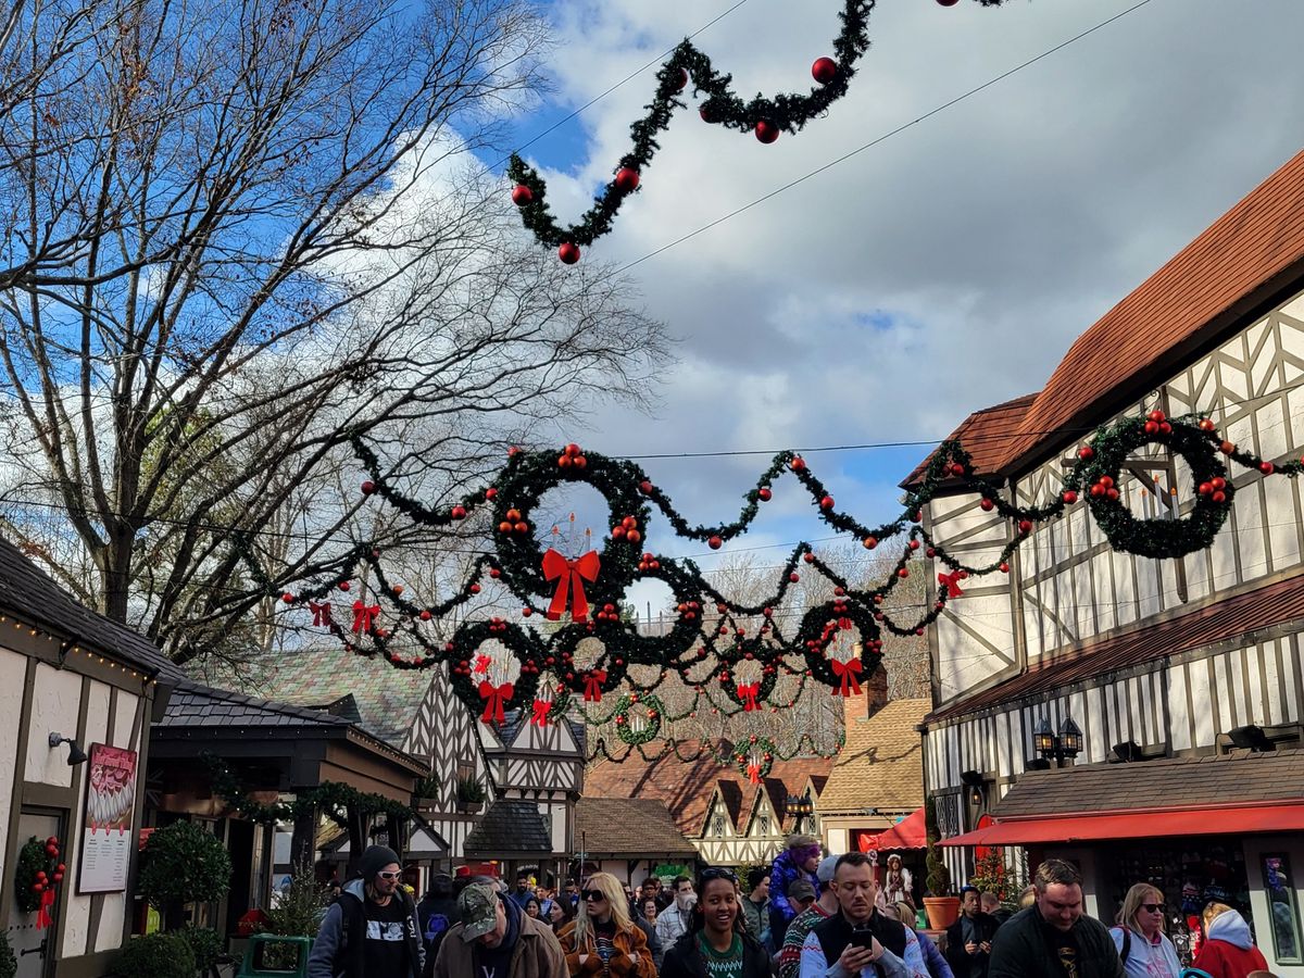
M595 390L647 396L629 284L514 245L475 163L539 85L524 0L87 9L50 57L33 8L0 119L4 516L83 600L177 661L266 645L232 544L347 572L377 539L351 433L437 501Z

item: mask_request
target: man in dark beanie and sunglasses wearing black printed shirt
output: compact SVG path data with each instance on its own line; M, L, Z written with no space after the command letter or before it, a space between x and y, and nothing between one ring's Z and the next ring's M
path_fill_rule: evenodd
M357 879L322 921L308 978L421 978L424 948L416 904L403 889L398 853L373 845L363 853Z

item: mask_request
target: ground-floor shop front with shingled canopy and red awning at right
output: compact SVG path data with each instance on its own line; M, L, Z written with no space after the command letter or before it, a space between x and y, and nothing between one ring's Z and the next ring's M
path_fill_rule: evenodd
M1227 904L1275 974L1304 978L1304 751L1029 772L992 815L943 844L1021 848L1033 867L1068 859L1082 871L1086 913L1107 923L1132 884L1151 883L1185 955L1204 906Z

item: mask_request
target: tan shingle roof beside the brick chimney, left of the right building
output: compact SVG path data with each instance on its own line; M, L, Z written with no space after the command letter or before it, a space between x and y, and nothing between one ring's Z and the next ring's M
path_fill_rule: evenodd
M868 720L848 719L842 746L819 798L820 815L914 811L923 805L923 754L915 729L927 699L898 699Z

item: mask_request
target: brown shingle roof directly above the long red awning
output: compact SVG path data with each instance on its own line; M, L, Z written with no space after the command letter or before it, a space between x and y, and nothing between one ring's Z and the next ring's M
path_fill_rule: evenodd
M1164 758L1029 771L992 808L998 819L1304 797L1304 750ZM1217 818L1215 812L1210 818Z

